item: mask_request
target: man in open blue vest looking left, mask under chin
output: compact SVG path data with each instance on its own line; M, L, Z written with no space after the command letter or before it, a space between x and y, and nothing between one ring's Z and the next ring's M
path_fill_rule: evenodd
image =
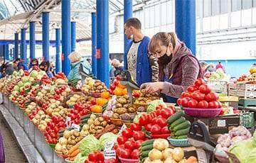
M157 81L156 57L149 55L150 38L142 33L142 23L139 19L129 18L124 24L124 33L132 40L127 52L124 52L124 57L127 59L127 62L124 62L124 69L128 69L139 86L145 82Z

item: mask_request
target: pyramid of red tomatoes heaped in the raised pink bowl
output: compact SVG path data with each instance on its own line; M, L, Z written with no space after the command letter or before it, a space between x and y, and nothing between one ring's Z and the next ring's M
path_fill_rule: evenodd
M186 91L181 94L178 105L185 108L221 108L218 101L218 94L211 91L210 87L203 81L197 79L193 86L188 86Z

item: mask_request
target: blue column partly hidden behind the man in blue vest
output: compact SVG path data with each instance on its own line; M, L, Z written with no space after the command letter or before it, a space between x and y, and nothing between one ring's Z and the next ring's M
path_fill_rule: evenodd
M124 23L132 18L132 0L124 0ZM124 53L127 52L129 39L124 34ZM127 57L124 57L124 63L127 63ZM127 69L126 64L124 64L125 69Z

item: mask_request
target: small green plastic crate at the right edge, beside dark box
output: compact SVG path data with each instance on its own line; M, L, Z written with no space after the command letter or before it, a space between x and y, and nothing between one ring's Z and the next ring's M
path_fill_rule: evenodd
M254 112L242 112L240 113L240 125L245 128L255 127Z

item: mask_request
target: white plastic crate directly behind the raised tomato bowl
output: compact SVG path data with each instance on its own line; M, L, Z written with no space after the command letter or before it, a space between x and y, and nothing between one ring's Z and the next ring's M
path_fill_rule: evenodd
M227 81L207 81L207 84L215 93L228 95Z

